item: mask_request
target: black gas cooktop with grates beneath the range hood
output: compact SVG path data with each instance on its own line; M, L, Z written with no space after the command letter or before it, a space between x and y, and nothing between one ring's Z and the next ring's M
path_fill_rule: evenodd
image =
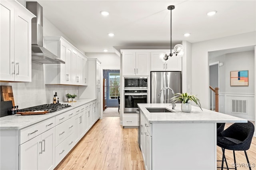
M39 106L33 106L33 107L28 107L25 109L20 109L19 112L28 112L28 111L50 111L50 113L52 112L56 112L56 111L60 111L62 109L66 109L68 107L70 107L71 105L68 104L44 104L44 105L39 105Z

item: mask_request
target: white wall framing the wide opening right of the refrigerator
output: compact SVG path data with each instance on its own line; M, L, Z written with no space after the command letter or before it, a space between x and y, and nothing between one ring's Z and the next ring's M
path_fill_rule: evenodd
M256 32L192 43L192 93L197 94L203 108L209 108L208 52L256 45Z

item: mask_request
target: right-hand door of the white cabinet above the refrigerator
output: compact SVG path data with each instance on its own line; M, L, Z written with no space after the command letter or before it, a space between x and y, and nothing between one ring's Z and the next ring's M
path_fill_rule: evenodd
M182 69L182 57L176 57L173 55L169 57L166 62L166 71L181 71Z

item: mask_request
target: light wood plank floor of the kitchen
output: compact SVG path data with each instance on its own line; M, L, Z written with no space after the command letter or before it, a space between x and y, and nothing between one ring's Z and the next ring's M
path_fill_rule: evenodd
M104 117L91 128L55 170L144 170L137 132L135 128L122 128L119 117ZM256 166L256 137L253 137L247 154L250 164ZM226 150L226 158L228 166L234 168L231 166L234 163L233 152ZM217 146L217 160L221 159L222 151ZM236 162L246 164L243 151L236 151ZM217 162L217 166L221 166L221 162ZM238 167L238 170L244 169L248 168ZM256 167L252 169L256 170Z

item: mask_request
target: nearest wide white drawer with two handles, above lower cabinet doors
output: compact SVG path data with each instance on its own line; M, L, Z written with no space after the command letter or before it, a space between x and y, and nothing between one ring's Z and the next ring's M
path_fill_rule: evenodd
M20 129L19 133L20 133L20 143L22 144L36 136L38 136L39 134L45 132L46 130L49 130L50 128L55 127L55 120L54 117L50 118L50 119L46 119L45 121L36 123L35 125L31 125L29 127Z

